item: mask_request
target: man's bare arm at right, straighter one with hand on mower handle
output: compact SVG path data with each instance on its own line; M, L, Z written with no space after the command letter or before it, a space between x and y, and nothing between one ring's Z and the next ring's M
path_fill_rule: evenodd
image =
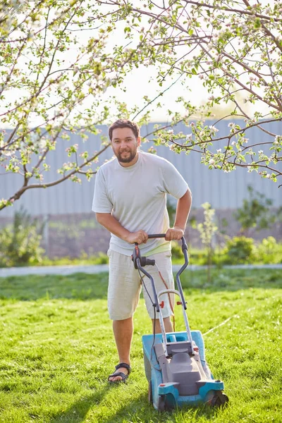
M183 197L181 197L177 202L174 226L166 231L166 240L180 240L183 237L191 204L192 194L188 188Z

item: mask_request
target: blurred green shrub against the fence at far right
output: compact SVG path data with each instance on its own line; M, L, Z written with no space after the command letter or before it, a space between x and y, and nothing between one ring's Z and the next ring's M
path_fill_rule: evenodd
M234 213L235 219L241 224L241 232L247 234L251 229L260 231L271 228L279 219L281 210L275 214L270 207L273 201L265 198L264 194L255 191L251 186L247 187L249 198L243 200L243 206Z

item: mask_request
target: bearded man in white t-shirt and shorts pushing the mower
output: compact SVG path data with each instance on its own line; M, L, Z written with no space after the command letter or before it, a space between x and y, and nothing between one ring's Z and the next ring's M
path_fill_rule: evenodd
M171 267L171 240L180 240L190 212L192 196L185 180L166 159L139 150L141 137L136 123L118 119L109 128L111 147L116 158L107 161L97 172L92 210L97 221L111 232L109 246L108 308L113 320L119 363L110 382L125 381L130 373L130 347L133 314L139 301L141 281L131 261L134 243L141 255L155 259L147 271L154 277L157 292L174 288ZM169 228L166 193L178 199L176 219ZM148 234L166 233L166 238L149 239ZM144 278L152 298L149 278ZM166 285L164 284L166 283ZM149 317L154 324L154 308L143 290ZM164 326L171 332L173 310L168 295L162 309ZM159 319L156 332L161 331Z

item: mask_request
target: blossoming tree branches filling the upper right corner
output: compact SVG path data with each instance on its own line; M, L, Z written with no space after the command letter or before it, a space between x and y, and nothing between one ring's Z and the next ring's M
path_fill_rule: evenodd
M171 125L155 128L158 144L172 142L176 153L200 152L202 163L211 169L230 172L240 166L274 181L282 175L278 166L282 136L269 125L282 118L281 1L250 4L239 0L226 5L223 0L140 4L108 0L103 4L114 10L110 19L118 20L124 29L132 67L157 67L160 87L173 76L188 89L195 79L200 80L209 95L203 106L187 95L180 97L178 111L168 110ZM238 101L238 93L243 102ZM217 135L221 119L205 123L219 104L232 107L224 117L233 121L223 135ZM236 118L245 123L238 125ZM188 135L173 128L180 122L190 128ZM254 127L264 133L261 145L247 138ZM226 142L223 148L222 140Z

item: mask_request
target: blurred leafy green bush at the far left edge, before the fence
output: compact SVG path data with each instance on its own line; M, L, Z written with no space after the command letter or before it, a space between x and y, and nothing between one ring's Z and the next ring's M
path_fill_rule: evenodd
M0 231L0 266L23 266L42 261L40 247L43 225L32 219L23 209L16 212L13 225Z

